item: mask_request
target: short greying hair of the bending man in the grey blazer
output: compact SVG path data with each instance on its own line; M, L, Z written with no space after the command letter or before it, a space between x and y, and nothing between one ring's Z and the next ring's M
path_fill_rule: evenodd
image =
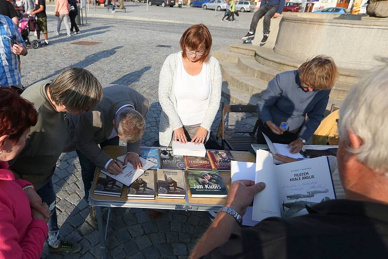
M117 134L123 140L133 143L139 141L146 131L146 121L135 109L124 107L116 114Z

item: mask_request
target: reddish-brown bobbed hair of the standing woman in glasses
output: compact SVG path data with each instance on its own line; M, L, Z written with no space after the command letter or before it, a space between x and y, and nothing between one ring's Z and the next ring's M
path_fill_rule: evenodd
M187 57L186 48L190 48L193 51L204 50L204 54L198 61L207 62L209 60L212 39L208 27L204 24L196 24L187 29L179 43L183 58Z

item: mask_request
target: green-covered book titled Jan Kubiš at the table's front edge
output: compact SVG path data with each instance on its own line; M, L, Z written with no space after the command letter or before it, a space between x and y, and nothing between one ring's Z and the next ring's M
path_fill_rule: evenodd
M198 198L225 198L227 191L218 171L186 170L191 196Z

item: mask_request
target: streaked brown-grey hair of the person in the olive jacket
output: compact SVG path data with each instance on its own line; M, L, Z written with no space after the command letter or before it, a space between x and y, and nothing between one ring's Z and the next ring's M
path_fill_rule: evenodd
M81 68L64 69L49 85L52 101L65 105L66 110L89 111L102 99L102 86L88 70Z

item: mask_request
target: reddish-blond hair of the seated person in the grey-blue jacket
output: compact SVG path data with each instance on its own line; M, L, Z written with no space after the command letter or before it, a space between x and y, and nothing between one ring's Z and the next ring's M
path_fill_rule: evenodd
M307 60L298 68L302 86L318 90L327 90L334 86L338 79L338 69L331 57L319 55Z

